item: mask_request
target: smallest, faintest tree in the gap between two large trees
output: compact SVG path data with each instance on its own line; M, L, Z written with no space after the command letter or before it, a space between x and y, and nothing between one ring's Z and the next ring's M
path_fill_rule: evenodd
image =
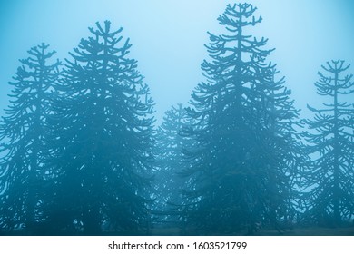
M182 151L191 148L192 141L181 135L183 128L192 124L182 104L165 112L156 132L155 195L156 210L175 210L182 203L181 190L188 185L180 173L185 167Z

